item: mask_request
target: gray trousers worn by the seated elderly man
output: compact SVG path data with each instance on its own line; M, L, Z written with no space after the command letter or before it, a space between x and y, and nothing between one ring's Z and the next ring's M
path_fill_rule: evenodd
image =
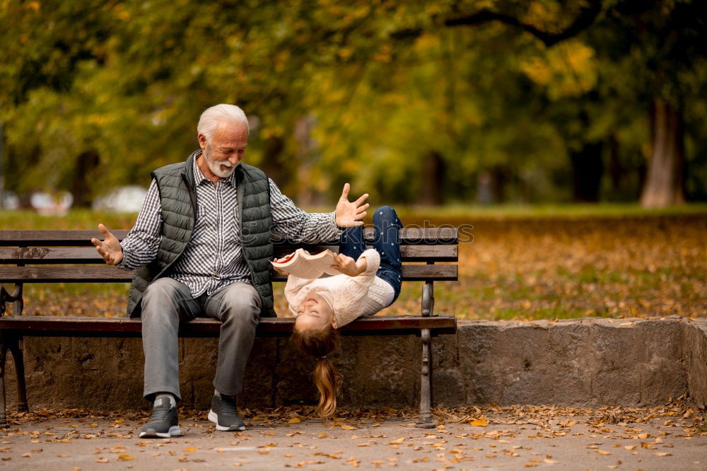
M215 293L192 298L187 286L160 278L142 298L142 344L145 351L144 396L153 401L157 392L179 392L180 320L212 318L222 322L214 388L236 395L243 388L245 363L255 340L260 318L260 297L247 283L224 286Z

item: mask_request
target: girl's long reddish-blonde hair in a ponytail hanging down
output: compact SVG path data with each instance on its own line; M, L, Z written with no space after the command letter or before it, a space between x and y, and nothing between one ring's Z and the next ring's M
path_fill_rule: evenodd
M322 423L325 423L337 412L337 395L341 389L341 374L327 358L327 355L339 347L339 331L329 323L322 330L298 330L295 327L292 343L299 351L317 359L312 376L319 390L317 412Z

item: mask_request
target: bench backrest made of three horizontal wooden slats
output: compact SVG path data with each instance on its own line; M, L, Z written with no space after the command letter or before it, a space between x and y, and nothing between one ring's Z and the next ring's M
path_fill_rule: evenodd
M122 240L128 231L113 231ZM16 285L15 295L22 295L24 283L53 282L127 282L132 274L117 267L108 267L90 243L102 238L98 231L0 231L0 283ZM434 281L456 281L457 229L404 228L400 231L403 281L425 281L429 312L433 303ZM366 229L366 239L373 240L373 229ZM337 252L336 242L322 245L293 244L287 240L275 242L275 256L282 257L303 247L316 253L325 248ZM13 265L13 266L7 266ZM286 277L273 272L273 281ZM424 298L425 296L423 296ZM424 299L423 299L424 301ZM21 313L22 303L16 303L15 313ZM424 308L423 308L424 313Z

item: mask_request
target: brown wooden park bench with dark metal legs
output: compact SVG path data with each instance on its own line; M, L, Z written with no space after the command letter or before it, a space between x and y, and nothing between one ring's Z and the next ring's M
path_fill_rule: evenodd
M114 231L122 240L128 231ZM419 335L422 344L420 420L419 426L435 426L431 416L431 342L438 334L456 331L453 315L434 313L434 282L456 281L457 230L455 228L404 228L401 231L401 255L404 281L424 281L421 294L421 315L378 315L361 318L341 329L342 335ZM23 364L24 337L139 337L140 319L99 317L51 317L21 315L23 289L28 283L105 283L131 281L132 274L117 267L108 267L90 243L100 237L96 231L0 231L0 283L14 284L12 293L0 289L0 424L6 423L5 364L10 351L15 362L18 385L18 409L27 411L27 391ZM373 230L366 230L373 239ZM329 245L292 245L276 243L275 256L282 257L294 248L312 252ZM8 266L11 265L11 266ZM273 272L273 281L286 277ZM277 292L276 296L282 296ZM14 303L13 315L6 315L6 303ZM288 336L293 318L263 318L257 327L258 337ZM180 326L180 337L218 337L220 322L195 319Z

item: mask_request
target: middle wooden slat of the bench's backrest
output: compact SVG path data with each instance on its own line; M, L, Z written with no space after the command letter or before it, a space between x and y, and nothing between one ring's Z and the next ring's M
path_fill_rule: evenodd
M312 253L329 249L338 251L337 245L304 246ZM278 245L276 257L284 257L295 250L291 245ZM402 245L403 262L456 262L457 245ZM103 264L103 258L93 247L0 247L0 264Z

